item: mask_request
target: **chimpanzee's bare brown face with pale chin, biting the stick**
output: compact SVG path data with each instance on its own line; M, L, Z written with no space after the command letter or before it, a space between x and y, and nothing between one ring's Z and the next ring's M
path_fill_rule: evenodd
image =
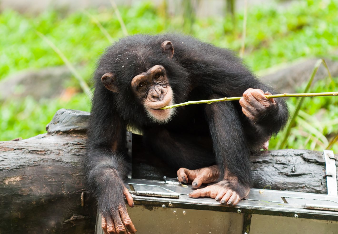
M171 119L172 109L159 110L173 104L173 92L163 66L155 65L135 76L131 81L131 88L136 97L142 100L149 118L158 123Z

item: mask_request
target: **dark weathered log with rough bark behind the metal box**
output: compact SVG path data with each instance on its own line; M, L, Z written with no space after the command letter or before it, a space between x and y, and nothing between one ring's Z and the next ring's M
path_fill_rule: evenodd
M95 202L83 181L88 117L88 112L61 109L46 134L0 142L0 233L94 232ZM136 149L133 146L133 160ZM138 160L133 177L161 178L166 173L147 158ZM327 193L322 152L264 151L250 160L256 188L271 185L271 189Z

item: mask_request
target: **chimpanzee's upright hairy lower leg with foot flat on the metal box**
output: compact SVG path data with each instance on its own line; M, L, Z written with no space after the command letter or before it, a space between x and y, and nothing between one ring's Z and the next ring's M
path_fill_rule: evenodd
M195 190L191 197L209 196L223 204L236 205L248 194L251 182L249 152L238 112L233 103L221 102L207 105L206 115L221 181Z

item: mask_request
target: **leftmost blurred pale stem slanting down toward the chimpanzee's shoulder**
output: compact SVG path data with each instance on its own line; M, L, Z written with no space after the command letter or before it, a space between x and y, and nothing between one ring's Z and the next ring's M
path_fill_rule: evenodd
M47 42L47 44L55 51L56 54L58 54L61 57L61 59L64 61L64 63L68 67L68 69L72 72L72 74L74 75L74 77L79 82L80 87L83 90L83 92L86 93L91 98L92 97L92 93L90 91L90 88L89 88L88 84L86 83L86 81L84 81L84 79L82 78L82 76L77 72L77 70L75 69L75 67L71 64L71 62L69 62L69 60L61 52L61 50L59 50L54 45L54 43L51 40L49 40L44 34L42 34L39 31L35 31L35 32L38 34L38 36L40 36L44 41Z

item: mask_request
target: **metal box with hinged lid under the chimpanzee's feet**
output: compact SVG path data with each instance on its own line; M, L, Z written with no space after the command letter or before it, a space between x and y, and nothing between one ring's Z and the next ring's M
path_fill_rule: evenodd
M174 180L129 179L135 207L129 216L137 233L304 234L338 233L338 197L251 189L237 206L211 198L189 198L191 185ZM161 194L172 198L160 197ZM175 198L179 194L179 198ZM154 196L158 197L154 197ZM97 233L103 233L100 218Z

